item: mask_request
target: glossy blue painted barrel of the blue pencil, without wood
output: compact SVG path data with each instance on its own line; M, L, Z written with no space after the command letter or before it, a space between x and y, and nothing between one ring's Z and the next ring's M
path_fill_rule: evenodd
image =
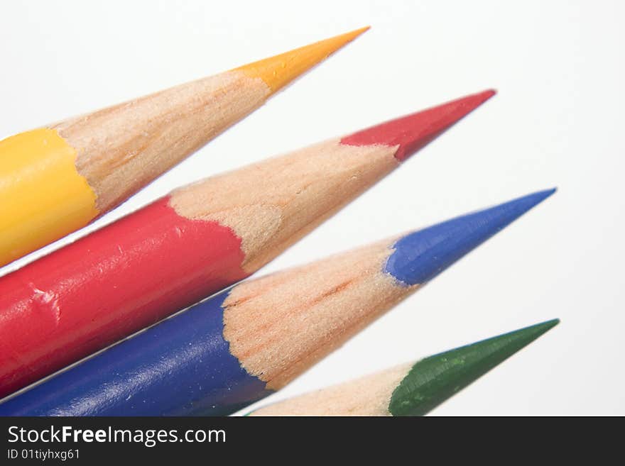
M0 404L0 416L219 416L269 394L223 338L227 292Z

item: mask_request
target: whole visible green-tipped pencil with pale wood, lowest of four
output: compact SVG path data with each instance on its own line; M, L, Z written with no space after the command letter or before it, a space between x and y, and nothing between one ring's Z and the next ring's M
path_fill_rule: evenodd
M417 362L317 390L249 416L424 416L560 321L445 351Z

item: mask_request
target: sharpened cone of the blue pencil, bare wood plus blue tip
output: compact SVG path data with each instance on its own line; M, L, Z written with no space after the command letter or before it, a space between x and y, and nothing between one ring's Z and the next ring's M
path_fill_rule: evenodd
M281 389L552 193L530 194L330 260L241 283L223 303L223 333L230 353L267 389Z

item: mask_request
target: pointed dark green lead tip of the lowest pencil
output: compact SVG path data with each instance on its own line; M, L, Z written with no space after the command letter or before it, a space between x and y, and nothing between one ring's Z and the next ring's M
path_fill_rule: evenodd
M426 357L413 365L393 391L393 416L423 416L560 323L537 323L504 335Z

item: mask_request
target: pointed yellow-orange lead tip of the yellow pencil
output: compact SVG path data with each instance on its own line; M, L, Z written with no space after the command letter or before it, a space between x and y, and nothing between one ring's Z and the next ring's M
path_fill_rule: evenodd
M272 92L276 92L368 29L369 26L352 30L350 33L320 40L274 57L249 63L235 70L244 72L252 78L261 78Z

